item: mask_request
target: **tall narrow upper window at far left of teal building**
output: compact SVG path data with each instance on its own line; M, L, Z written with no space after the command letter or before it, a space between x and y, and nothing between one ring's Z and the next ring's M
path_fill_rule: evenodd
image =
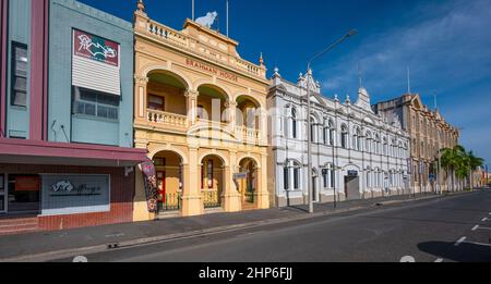
M27 46L13 44L11 106L27 107Z

